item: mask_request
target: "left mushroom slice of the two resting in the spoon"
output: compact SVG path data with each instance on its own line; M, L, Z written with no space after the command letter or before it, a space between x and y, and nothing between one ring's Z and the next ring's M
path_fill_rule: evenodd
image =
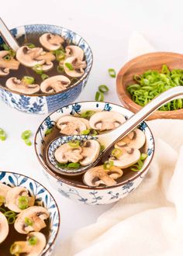
M60 164L78 163L83 158L81 152L80 146L70 147L69 144L63 144L55 150L54 156Z

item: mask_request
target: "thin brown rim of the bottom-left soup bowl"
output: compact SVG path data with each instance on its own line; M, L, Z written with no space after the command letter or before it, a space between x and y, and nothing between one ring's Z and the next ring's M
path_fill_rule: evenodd
M9 174L14 174L14 175L21 175L21 176L23 176L23 177L32 179L33 182L36 182L36 183L38 183L39 185L41 185L41 186L43 187L43 189L45 189L45 190L47 191L47 193L50 194L50 196L51 196L52 199L54 200L54 203L55 203L55 205L56 205L56 207L57 207L57 212L58 212L58 226L57 226L57 232L56 232L56 234L55 234L55 236L54 236L54 240L53 240L50 244L48 244L48 242L47 242L47 244L48 244L47 251L49 251L49 250L50 250L50 247L52 247L52 245L55 243L55 241L56 241L56 239L57 239L57 236L58 236L58 232L59 232L59 230L60 230L60 210L59 210L59 208L58 208L58 205L57 205L56 200L54 199L54 196L50 193L50 191L49 191L44 185L40 184L40 182L37 182L34 178L31 178L31 177L29 177L29 176L27 176L27 175L22 175L21 173L14 172L14 171L2 171L2 169L0 169L0 172L5 172L5 173L9 173ZM44 251L43 254L46 254L47 251ZM41 254L41 255L42 255L42 254ZM41 255L40 255L40 256L41 256Z

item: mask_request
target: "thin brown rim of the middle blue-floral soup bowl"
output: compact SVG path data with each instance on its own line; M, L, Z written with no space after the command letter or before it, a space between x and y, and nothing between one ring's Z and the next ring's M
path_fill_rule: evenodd
M71 103L71 104L67 104L66 106L63 106L59 109L62 109L62 108L66 108L67 106L71 106L73 104L80 104L80 103L85 103L85 102L92 102L92 103L97 103L97 101L81 101L81 102L74 102L74 103ZM99 103L99 102L98 102ZM100 102L101 103L101 102ZM113 103L113 102L103 102L103 103L109 103L111 105L114 105L114 106L118 106L120 108L123 108L123 109L126 109L125 107L123 106L120 106L119 104L116 104L116 103ZM55 110L54 112L57 112L59 109ZM129 112L132 112L131 110L127 109ZM54 114L54 112L51 112L48 116L51 116ZM132 112L133 113L133 112ZM134 113L133 113L134 114ZM47 116L47 117L48 117ZM150 167L150 164L151 164L151 161L153 160L154 158L154 150L155 150L155 140L154 140L154 135L152 133L152 131L150 130L150 127L147 125L147 123L145 121L143 121L144 123L146 123L147 125L147 128L150 130L150 133L151 133L151 136L152 136L152 140L153 140L153 145L154 145L154 150L151 154L151 157L150 157L150 161L148 162L146 168L143 169L143 171L136 171L137 175L133 176L133 178L129 178L128 180L126 180L126 182L121 182L119 184L116 184L116 185L112 185L112 186L109 186L109 187L87 187L87 186L83 186L83 185L78 185L78 184L74 184L72 182L69 182L67 180L63 180L62 178L60 178L60 176L57 175L57 173L55 173L54 171L51 171L50 168L47 166L47 164L44 162L44 164L42 163L42 161L40 161L40 157L39 157L39 154L36 150L36 138L37 138L37 135L39 133L39 130L40 130L40 126L45 122L45 120L47 119L44 118L43 121L40 123L38 129L36 130L36 133L35 133L35 136L34 136L34 150L36 152L36 157L38 158L38 161L40 162L40 164L42 165L42 167L44 168L45 171L48 172L49 175L51 175L52 177L56 178L57 179L57 182L63 182L64 184L67 184L67 185L71 185L75 188L79 188L79 189L89 189L89 190L107 190L107 189L115 189L115 188L118 188L119 186L123 186L125 185L126 183L129 183L129 182L133 182L134 180L136 180L136 178L139 178L145 171L148 170L148 168Z

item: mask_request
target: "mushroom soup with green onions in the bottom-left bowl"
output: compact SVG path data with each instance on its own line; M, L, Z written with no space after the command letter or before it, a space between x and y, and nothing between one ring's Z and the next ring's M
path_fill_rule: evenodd
M40 255L49 236L49 216L27 189L0 182L0 255Z

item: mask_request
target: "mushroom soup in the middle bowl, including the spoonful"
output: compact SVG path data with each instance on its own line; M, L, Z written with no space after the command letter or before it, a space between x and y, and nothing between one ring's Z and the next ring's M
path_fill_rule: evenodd
M46 160L47 147L49 147L50 141L57 137L110 133L125 122L125 116L112 111L94 112L88 110L76 116L61 116L57 119L54 127L47 130L45 134L46 144L43 145L43 157ZM132 177L134 171L140 171L143 167L143 161L147 157L147 154L144 154L145 143L145 134L136 128L115 144L111 154L106 158L107 161L100 162L98 166L89 169L84 175L57 175L60 175L67 182L74 182L86 187L119 184L126 178ZM100 144L99 137L98 140L74 140L57 147L54 157L58 167L71 170L91 164L102 150L103 146Z

